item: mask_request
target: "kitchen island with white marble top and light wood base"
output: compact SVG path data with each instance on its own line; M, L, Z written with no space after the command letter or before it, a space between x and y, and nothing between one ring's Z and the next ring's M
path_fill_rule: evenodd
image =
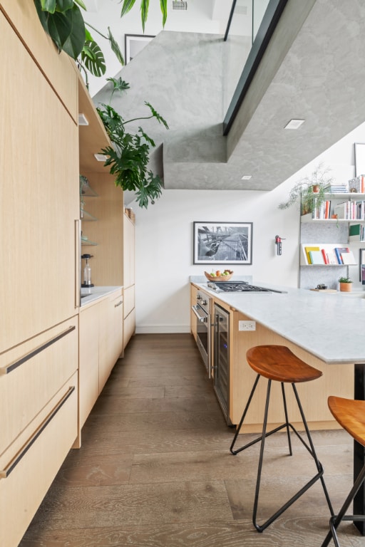
M346 298L341 294L256 284L285 292L217 293L207 283L192 283L192 296L198 288L211 296L213 302L230 311L229 407L232 424L240 420L255 380L255 373L245 360L247 349L253 345L277 343L287 345L299 358L323 372L319 380L298 386L309 427L338 427L329 413L327 397L338 395L365 400L365 293L364 297ZM255 330L240 331L238 322L242 320L255 321ZM258 394L259 404L252 405L251 415L247 413L249 425L244 428L245 432L259 430L259 423L262 423L259 406L264 400L264 390L265 386ZM277 390L275 402L280 400L279 397ZM293 410L289 403L290 421ZM273 409L269 417L270 426L279 423L278 411L278 408ZM364 462L364 447L354 442L354 477ZM364 485L354 499L354 514L365 514ZM355 526L364 536L364 523L357 522Z

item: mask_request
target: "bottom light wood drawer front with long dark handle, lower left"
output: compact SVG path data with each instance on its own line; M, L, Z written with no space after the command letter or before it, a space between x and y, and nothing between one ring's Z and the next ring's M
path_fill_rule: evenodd
M47 405L40 428L27 439L17 459L1 462L1 546L18 546L76 439L77 400L76 373Z

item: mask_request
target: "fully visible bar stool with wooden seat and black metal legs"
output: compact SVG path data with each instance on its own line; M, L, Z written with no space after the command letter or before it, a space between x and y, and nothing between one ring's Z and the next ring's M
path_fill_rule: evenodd
M240 424L238 425L237 430L235 432L235 437L233 438L232 444L230 446L230 452L232 452L232 454L238 454L239 452L242 452L242 450L245 450L246 448L251 447L252 444L255 444L261 441L261 447L259 451L259 465L257 469L257 482L256 482L256 489L255 489L255 502L254 502L254 509L252 514L252 522L255 528L259 532L264 531L264 529L267 528L269 524L271 524L275 519L277 519L278 516L280 516L284 511L286 511L288 507L291 506L294 503L294 501L299 499L299 497L302 496L302 494L304 494L304 492L307 491L318 479L320 479L322 482L322 487L324 490L324 495L326 496L327 504L329 506L329 511L331 512L331 515L333 515L334 511L331 506L331 501L329 499L329 494L327 492L326 484L324 484L323 467L322 467L322 464L319 462L317 458L317 454L314 450L314 444L312 442L312 437L309 433L307 420L305 419L304 412L302 409L302 404L299 400L297 387L295 386L297 382L309 382L310 380L317 380L317 378L322 376L321 370L317 370L317 368L313 368L310 365L307 365L307 363L304 363L304 361L299 359L296 355L294 355L294 353L292 353L291 350L289 350L289 348L287 348L284 345L257 345L253 348L250 348L250 350L247 351L246 358L247 358L247 363L257 373L257 377L252 387L250 397L247 400L247 405L245 407L245 410L243 411ZM233 448L235 446L235 442L237 440L238 434L240 433L240 429L242 428L242 424L245 420L247 410L250 407L250 403L255 393L257 384L259 382L260 377L262 376L266 377L269 380L267 383L267 395L266 395L266 403L264 407L264 422L262 425L262 435L258 437L257 439L254 439L253 441L248 442L247 444L240 447L239 449L234 450ZM284 403L285 423L267 432L267 415L269 412L270 389L271 389L271 384L273 380L276 382L280 382L282 386L282 400ZM307 444L307 442L305 442L304 439L302 439L302 436L299 434L299 432L297 432L297 429L295 429L295 427L291 423L289 423L288 412L287 412L287 401L285 398L285 389L284 389L285 383L292 384L292 388L294 391L295 398L297 400L297 405L299 407L299 412L302 417L302 422L304 424L304 429L307 433L307 439L309 444ZM302 487L302 489L297 491L297 494L294 494L294 496L292 496L292 498L290 498L287 501L287 503L285 503L278 511L276 511L276 513L274 513L272 516L270 516L269 519L267 519L267 521L265 521L264 523L260 525L257 523L257 507L259 504L259 488L260 488L261 473L262 473L262 461L264 457L264 443L265 443L266 437L269 437L269 435L272 435L273 433L276 433L280 429L284 429L284 428L287 429L287 438L288 438L290 456L292 456L292 442L290 439L290 429L292 429L292 431L295 434L297 434L297 437L300 439L302 444L304 444L304 447L307 448L309 454L311 454L312 458L314 459L314 462L317 467L317 474L315 474L313 478Z

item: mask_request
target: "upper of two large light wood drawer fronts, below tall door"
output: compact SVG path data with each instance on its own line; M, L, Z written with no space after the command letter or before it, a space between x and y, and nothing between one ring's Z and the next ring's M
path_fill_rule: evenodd
M78 368L77 317L0 355L0 455ZM1 543L0 543L1 544Z

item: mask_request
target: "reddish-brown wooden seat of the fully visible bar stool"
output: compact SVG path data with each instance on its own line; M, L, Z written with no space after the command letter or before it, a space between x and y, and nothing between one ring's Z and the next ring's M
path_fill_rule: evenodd
M257 345L246 358L257 374L277 382L309 382L322 376L321 370L304 363L285 345Z

